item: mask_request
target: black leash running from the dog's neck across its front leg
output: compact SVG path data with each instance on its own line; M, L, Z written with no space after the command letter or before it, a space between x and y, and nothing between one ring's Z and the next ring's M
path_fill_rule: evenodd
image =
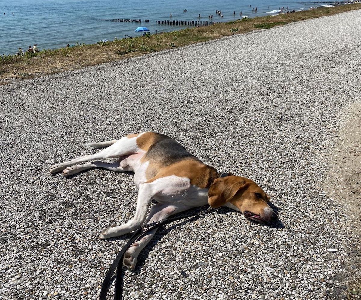
M103 280L103 285L101 286L99 300L106 300L106 293L108 292L110 279L112 279L112 276L113 276L116 269L117 269L117 273L116 273L116 278L115 278L114 300L121 300L122 299L122 295L123 295L123 286L122 286L122 270L123 270L122 262L123 262L123 256L125 254L125 251L127 251L127 249L130 247L130 245L132 245L132 243L136 239L147 235L148 232L152 231L155 228L159 228L162 225L165 225L165 224L168 224L168 223L171 223L171 222L174 222L174 221L178 221L178 220L181 220L181 219L186 219L186 218L192 217L191 219L188 220L188 221L190 221L190 220L193 220L195 218L198 218L198 217L206 214L207 212L209 212L209 211L211 211L213 209L214 208L212 208L212 207L208 207L208 209L206 209L204 211L197 212L196 214L189 214L189 215L179 216L179 217L175 217L175 218L171 218L171 219L164 219L164 220L161 220L159 222L149 223L147 225L143 225L142 227L140 227L132 235L132 237L129 239L127 244L118 253L118 255L114 259L113 263L110 265L110 268L109 268L108 272L106 273L105 278ZM217 209L214 209L214 210L217 210Z

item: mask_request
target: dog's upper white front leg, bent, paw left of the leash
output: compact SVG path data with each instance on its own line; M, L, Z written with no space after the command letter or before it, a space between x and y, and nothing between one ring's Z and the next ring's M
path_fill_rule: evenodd
M148 208L151 204L153 196L157 193L155 188L156 187L152 183L141 183L139 185L135 216L123 225L113 225L104 228L101 231L99 238L105 239L110 237L122 236L123 234L129 233L142 226L145 217L147 216Z

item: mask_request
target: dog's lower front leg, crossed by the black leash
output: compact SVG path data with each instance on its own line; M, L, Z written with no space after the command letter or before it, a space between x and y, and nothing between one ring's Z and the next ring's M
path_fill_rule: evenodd
M190 209L191 206L186 206L180 203L174 204L156 204L152 206L151 212L149 213L148 220L145 222L146 224L161 221L163 219L168 218L171 215L177 214L178 212ZM153 229L146 236L141 239L135 241L129 249L124 254L123 265L125 265L128 269L134 270L136 261L140 252L144 249L144 247L149 243L157 229Z

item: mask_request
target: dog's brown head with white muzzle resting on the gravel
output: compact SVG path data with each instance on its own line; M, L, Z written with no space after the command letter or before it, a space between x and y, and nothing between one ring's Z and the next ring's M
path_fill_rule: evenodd
M258 223L272 223L277 214L268 205L270 197L253 180L240 176L226 176L214 180L208 191L212 207L227 206L242 212Z

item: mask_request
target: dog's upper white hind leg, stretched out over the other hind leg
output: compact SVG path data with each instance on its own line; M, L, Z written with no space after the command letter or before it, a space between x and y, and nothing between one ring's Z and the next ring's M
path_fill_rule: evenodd
M64 170L66 167L70 167L80 162L86 162L89 160L99 160L104 158L116 158L120 156L130 155L134 153L139 153L142 150L139 149L136 139L140 136L124 136L120 140L117 140L115 143L110 145L108 148L101 150L98 153L93 155L84 155L73 160L62 162L61 164L52 165L49 169L50 173L57 173ZM112 141L113 142L113 141Z

